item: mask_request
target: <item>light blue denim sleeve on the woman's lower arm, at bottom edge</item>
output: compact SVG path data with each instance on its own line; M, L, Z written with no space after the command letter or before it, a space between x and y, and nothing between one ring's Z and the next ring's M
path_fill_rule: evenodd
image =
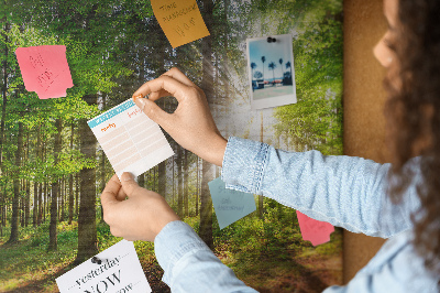
M168 223L154 239L154 250L172 292L256 292L183 221Z

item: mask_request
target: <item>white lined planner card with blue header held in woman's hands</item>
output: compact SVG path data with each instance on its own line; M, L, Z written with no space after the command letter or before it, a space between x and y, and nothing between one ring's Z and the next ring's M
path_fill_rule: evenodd
M131 100L88 121L114 172L134 176L174 155L164 133Z

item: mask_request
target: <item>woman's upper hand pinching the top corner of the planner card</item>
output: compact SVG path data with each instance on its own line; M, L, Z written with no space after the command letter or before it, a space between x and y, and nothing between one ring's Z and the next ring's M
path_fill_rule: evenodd
M143 98L146 95L148 98ZM174 113L165 112L154 102L165 96L176 97L178 106ZM183 148L222 165L227 140L216 127L204 91L179 69L172 68L145 83L133 94L133 100Z

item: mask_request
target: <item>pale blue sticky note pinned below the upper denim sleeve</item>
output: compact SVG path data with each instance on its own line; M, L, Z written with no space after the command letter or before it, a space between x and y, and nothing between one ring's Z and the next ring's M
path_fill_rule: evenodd
M253 194L227 189L220 177L208 185L220 229L256 210Z

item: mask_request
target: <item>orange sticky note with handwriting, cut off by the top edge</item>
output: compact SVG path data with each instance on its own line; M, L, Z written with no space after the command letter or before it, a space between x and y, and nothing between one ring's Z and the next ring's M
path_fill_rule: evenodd
M209 35L196 0L151 0L151 3L173 47Z

